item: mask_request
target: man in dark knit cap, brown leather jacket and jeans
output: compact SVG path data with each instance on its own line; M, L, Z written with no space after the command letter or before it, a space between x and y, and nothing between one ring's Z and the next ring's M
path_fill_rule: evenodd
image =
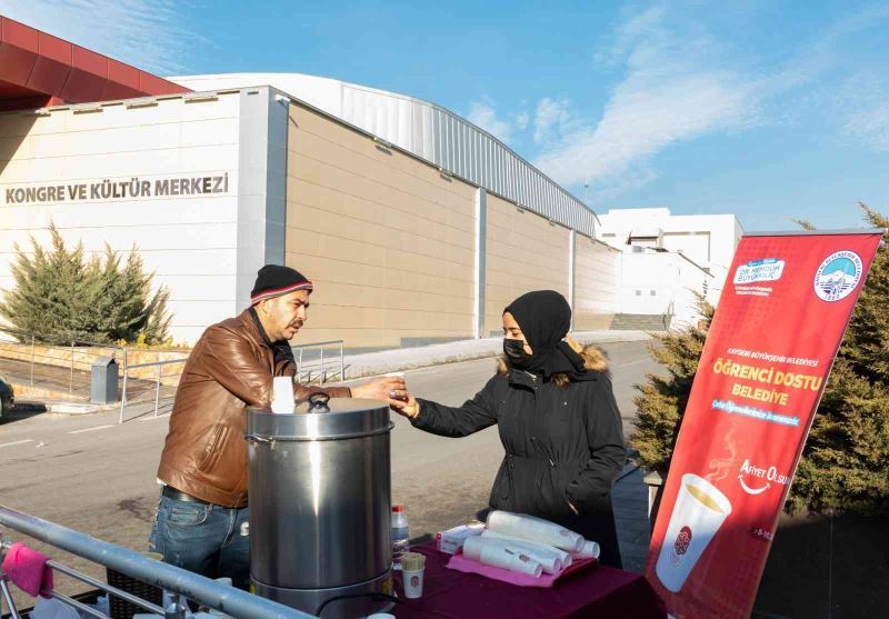
M267 264L240 316L208 328L186 362L158 480L163 483L149 546L168 563L249 585L246 408L268 408L273 377L296 375L288 341L307 320L311 281ZM370 398L403 406L404 381L381 378L348 387L302 387L332 398Z

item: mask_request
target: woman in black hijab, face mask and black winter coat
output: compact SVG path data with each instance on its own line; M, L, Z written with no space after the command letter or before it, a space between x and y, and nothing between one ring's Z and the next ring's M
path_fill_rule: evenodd
M506 456L491 509L558 522L599 542L603 565L620 567L611 510L626 458L620 413L605 357L566 341L570 326L558 292L519 297L503 311L505 359L473 399L453 408L411 396L399 412L444 437L497 423Z

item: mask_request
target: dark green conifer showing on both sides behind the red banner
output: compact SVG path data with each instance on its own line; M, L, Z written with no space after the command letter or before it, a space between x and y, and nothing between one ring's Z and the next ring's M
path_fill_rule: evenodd
M889 219L861 204L870 226L889 229ZM806 221L798 221L813 229ZM885 239L886 240L886 239ZM639 409L630 445L639 463L661 476L670 467L698 360L712 318L700 300L702 328L660 336L652 357L666 376L638 385ZM787 511L845 509L872 512L889 500L889 247L870 268L836 365L815 416Z

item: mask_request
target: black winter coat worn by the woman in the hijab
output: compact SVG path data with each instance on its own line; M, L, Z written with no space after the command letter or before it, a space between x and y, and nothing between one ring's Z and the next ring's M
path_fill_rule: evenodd
M411 423L434 435L465 437L498 425L506 456L491 489L491 509L558 522L597 541L603 565L620 567L611 487L623 468L626 449L606 372L587 370L560 387L501 367L461 407L419 403L420 413Z

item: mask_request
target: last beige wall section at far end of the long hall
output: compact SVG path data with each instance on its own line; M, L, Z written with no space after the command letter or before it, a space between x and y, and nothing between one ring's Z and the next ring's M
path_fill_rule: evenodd
M618 313L621 252L582 234L575 244L575 330L608 329Z

